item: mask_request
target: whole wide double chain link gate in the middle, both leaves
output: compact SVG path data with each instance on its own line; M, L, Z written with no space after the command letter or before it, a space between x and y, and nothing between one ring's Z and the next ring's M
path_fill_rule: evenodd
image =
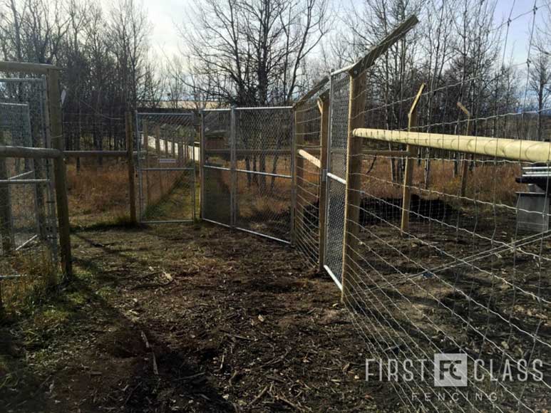
M292 108L204 110L202 219L289 244Z

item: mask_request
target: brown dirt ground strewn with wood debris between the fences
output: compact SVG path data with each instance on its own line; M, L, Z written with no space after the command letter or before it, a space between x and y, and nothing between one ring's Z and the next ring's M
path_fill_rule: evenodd
M197 224L73 253L76 281L0 326L1 412L396 411L334 283L282 244Z

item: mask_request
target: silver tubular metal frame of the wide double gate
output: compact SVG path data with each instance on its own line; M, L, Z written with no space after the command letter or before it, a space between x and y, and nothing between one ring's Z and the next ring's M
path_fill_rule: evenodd
M228 109L205 109L201 112L201 155L200 155L200 189L201 189L201 199L200 199L200 209L201 209L201 219L207 222L212 222L213 224L218 224L222 226L226 226L228 228L238 229L240 231L247 232L249 234L254 234L258 236L262 236L267 239L272 239L274 241L279 241L284 244L291 244L291 240L287 239L280 239L275 236L271 236L268 234L262 234L258 231L253 231L251 229L243 228L242 226L239 226L237 224L237 173L239 172L246 172L247 174L257 174L257 175L263 175L265 177L277 177L277 178L283 178L283 179L289 179L292 181L292 174L274 174L271 172L259 172L249 169L237 169L237 136L236 136L236 112L241 110L289 110L289 126L292 126L292 106L261 106L261 107L245 107L245 108L237 108L233 106L232 108ZM230 167L218 167L214 165L209 165L205 163L206 157L205 157L205 150L206 150L206 142L207 139L205 137L205 113L214 113L214 112L229 112L230 113L230 136L229 136L229 142L228 142L228 149L230 151ZM293 134L292 134L292 142L291 148L294 147L294 128L292 128ZM292 154L292 149L289 150L289 154ZM230 208L230 224L225 224L220 221L216 221L215 219L210 219L207 216L205 216L205 169L218 169L222 171L230 172L230 204L228 207ZM291 171L294 171L294 157L290 157L290 169ZM289 234L292 234L293 231L293 208L292 208L292 199L294 197L294 188L291 185L291 205L290 206L290 219L289 219Z

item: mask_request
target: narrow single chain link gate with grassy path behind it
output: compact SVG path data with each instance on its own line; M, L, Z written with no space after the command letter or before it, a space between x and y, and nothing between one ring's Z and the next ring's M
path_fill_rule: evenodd
M195 220L195 115L137 113L140 222Z

